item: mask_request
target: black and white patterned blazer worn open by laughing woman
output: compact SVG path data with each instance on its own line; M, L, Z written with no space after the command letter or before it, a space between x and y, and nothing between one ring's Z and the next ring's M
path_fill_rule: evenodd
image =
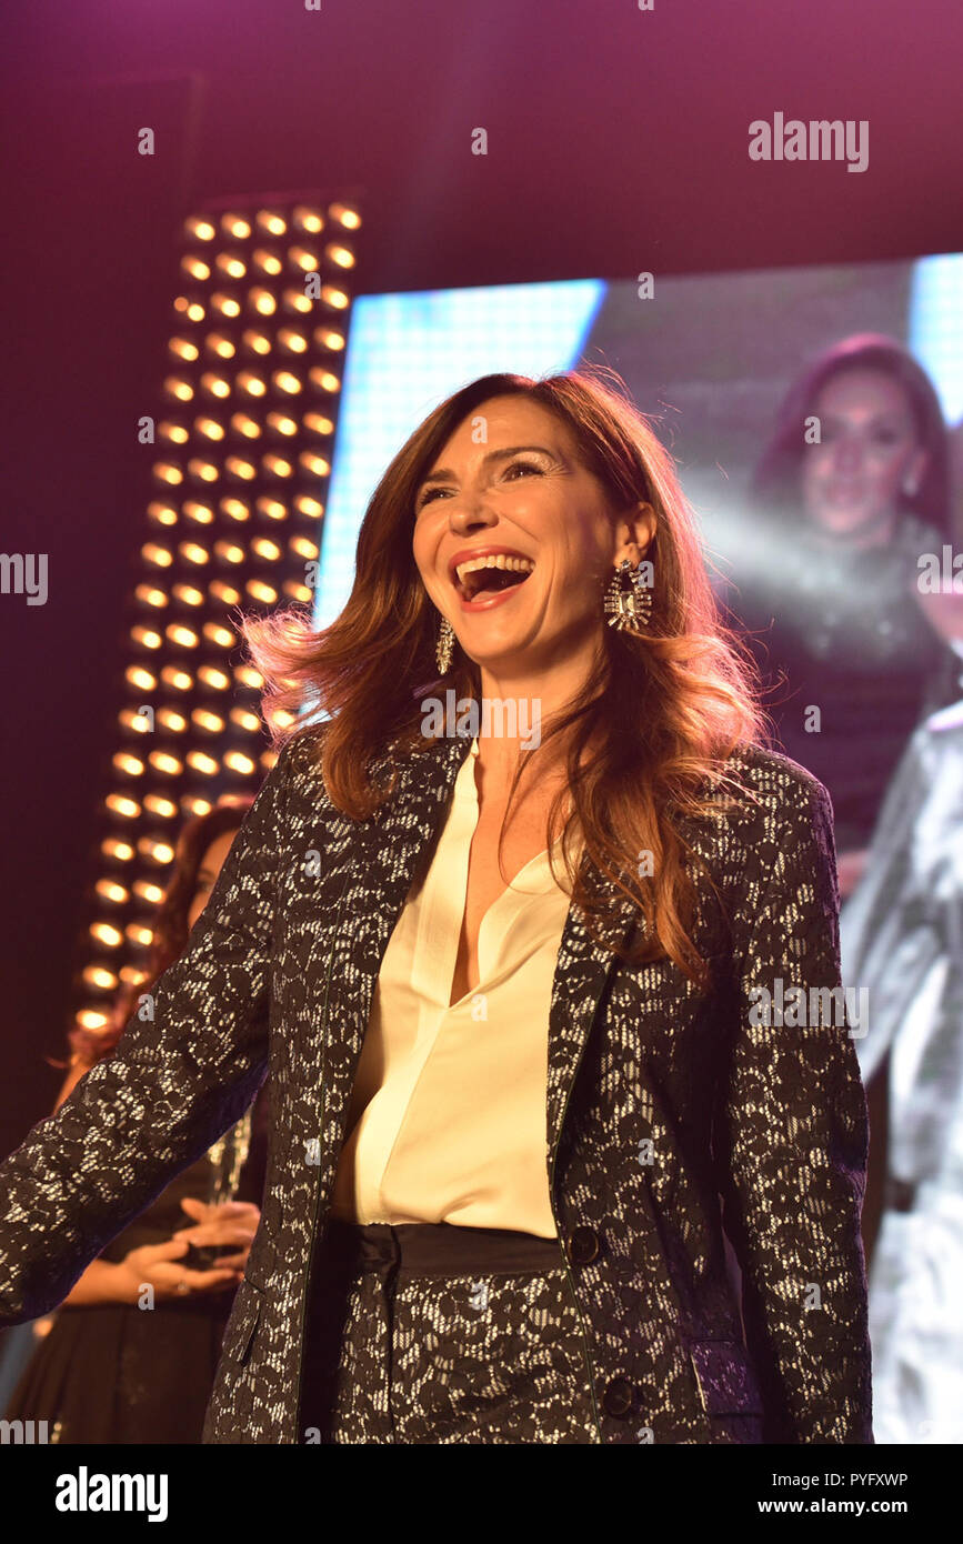
M60 1303L270 1073L262 1220L208 1408L215 1444L306 1441L309 1269L355 1065L381 957L468 753L457 738L426 741L398 761L378 817L352 821L318 772L323 732L302 729L281 752L154 988L153 1019L134 1016L0 1166L11 1325ZM614 886L605 943L569 906L546 1089L560 1260L599 1442L866 1444L857 1051L823 1008L802 1025L758 1008L759 988L827 1002L840 987L832 809L815 778L765 750L728 770L755 801L698 835L722 902L702 880L694 937L718 965L710 993L668 960L631 968L613 954L637 925Z

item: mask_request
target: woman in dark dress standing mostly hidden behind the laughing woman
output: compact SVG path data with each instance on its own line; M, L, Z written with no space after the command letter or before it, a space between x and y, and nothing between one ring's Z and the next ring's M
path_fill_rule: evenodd
M71 1030L56 1109L111 1055L130 1014L184 950L250 804L224 803L184 826L147 976L119 997L110 1030ZM43 1339L8 1420L46 1420L48 1441L62 1445L201 1441L224 1326L261 1215L265 1098L106 1246L52 1325L34 1326ZM191 1246L210 1254L188 1254Z

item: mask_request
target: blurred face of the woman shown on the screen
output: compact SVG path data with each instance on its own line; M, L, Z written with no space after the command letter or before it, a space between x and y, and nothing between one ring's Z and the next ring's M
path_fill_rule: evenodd
M821 443L802 451L807 517L827 536L861 547L886 542L901 493L915 491L926 468L906 392L881 371L841 371L819 392L813 414Z

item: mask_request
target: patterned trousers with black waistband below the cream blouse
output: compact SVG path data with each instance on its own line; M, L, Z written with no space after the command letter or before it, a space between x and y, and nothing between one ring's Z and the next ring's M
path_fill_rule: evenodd
M304 1442L599 1442L557 1238L332 1220L309 1309Z

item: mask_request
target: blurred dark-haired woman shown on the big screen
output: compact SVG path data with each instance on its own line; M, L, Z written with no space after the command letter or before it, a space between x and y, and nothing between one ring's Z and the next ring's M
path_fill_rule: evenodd
M843 899L911 733L958 696L958 661L917 584L918 557L951 539L948 462L924 371L892 338L860 334L793 381L752 485L727 604L750 631L779 749L830 792Z

